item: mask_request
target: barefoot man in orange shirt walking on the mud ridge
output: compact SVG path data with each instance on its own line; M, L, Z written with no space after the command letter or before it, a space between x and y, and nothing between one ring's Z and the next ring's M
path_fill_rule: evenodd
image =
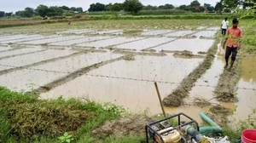
M241 28L238 27L238 23L239 23L238 19L233 20L233 26L228 29L226 34L227 37L225 38L224 44L223 44L223 49L224 49L225 44L228 43L226 54L225 54L225 60L226 60L225 68L229 66L229 59L230 59L230 55L232 54L230 70L232 69L234 62L236 60L237 51L241 48L240 41L242 37L242 31L241 31Z

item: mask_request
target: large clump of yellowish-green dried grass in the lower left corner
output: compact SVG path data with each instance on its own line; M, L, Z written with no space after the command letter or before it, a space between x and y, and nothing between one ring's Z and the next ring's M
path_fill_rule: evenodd
M3 87L0 87L0 94L0 112L7 115L13 127L12 134L24 140L76 131L93 116L78 100L38 100L35 95L12 92ZM0 117L0 129L6 133L8 125L1 118L4 117Z

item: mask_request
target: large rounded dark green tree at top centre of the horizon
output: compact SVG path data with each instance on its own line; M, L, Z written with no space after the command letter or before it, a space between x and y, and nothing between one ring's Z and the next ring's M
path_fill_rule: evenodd
M131 12L131 14L137 14L142 9L143 3L140 3L138 0L125 0L124 10L126 12Z

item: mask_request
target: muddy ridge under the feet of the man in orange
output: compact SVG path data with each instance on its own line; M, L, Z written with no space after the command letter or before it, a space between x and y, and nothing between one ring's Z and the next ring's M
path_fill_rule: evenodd
M241 56L240 56L241 57ZM237 57L234 67L236 69L224 70L218 79L214 94L218 101L236 102L236 84L241 77L241 59Z

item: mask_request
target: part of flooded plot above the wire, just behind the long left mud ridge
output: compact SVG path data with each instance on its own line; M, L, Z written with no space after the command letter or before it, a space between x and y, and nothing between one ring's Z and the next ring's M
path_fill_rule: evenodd
M90 66L105 60L119 58L122 54L112 53L88 53L74 56L72 58L58 60L44 64L42 66L34 66L35 69L52 70L57 72L75 72L85 66Z

